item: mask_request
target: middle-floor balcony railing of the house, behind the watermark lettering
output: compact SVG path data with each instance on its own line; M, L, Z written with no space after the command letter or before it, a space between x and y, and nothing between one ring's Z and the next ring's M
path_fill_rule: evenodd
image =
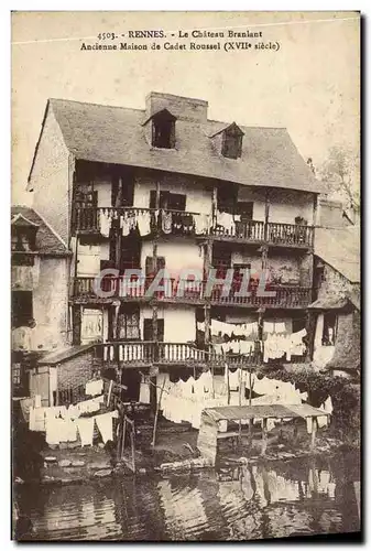
M198 302L209 300L215 305L236 306L269 306L269 307L305 307L312 301L312 289L307 287L268 285L265 289L251 289L250 295L239 296L239 288L232 285L227 296L223 295L222 284L214 285L209 296L206 296L206 283L201 281L183 281L165 279L162 281L162 291L152 291L153 278L130 281L127 278L102 278L100 290L96 278L75 278L73 281L73 296L81 300L122 299L127 301L151 300L164 302Z

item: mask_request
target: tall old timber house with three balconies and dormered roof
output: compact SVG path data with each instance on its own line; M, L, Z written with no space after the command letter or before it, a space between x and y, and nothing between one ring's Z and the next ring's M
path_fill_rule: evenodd
M207 109L157 93L143 110L47 101L28 185L42 218L25 218L46 220L68 268L64 290L54 270L41 289L54 290L47 307L65 316L56 346L28 365L43 404L74 400L97 369L138 401L164 372L312 360L320 183L286 129L209 120ZM168 292L149 298L160 268ZM232 268L231 292L216 284L207 295L201 277L177 293L184 268L220 279ZM126 292L128 269L145 274L135 292ZM114 272L98 296L102 270ZM236 292L243 270L245 296ZM263 272L270 292L260 294ZM151 403L155 393L152 385Z

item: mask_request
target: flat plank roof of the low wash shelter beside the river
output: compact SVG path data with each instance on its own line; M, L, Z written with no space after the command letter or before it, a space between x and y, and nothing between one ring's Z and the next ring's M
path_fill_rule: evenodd
M238 421L240 419L292 419L328 415L323 410L313 408L307 403L272 406L225 406L220 408L207 408L204 410L215 422Z

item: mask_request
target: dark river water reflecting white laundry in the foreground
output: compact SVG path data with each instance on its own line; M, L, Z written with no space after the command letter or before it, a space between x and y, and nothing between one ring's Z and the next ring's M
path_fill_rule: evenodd
M359 456L19 486L32 540L254 540L359 530ZM24 519L28 522L24 523ZM31 522L30 522L31 521Z

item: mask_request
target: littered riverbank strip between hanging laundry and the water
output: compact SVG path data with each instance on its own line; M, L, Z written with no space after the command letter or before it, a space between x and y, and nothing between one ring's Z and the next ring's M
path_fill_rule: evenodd
M108 443L89 447L65 447L51 450L46 445L40 451L37 476L25 483L41 485L81 484L88 479L110 476L146 476L151 473L193 472L210 468L197 450L198 431L188 423L175 424L161 418L156 444L152 442L153 423L143 421L137 428L135 451L128 447L120 461L116 446ZM253 428L252 441L242 435L240 441L222 442L218 456L219 466L257 464L261 462L290 461L301 457L331 456L347 446L336 432L321 429L316 449L310 449L310 435L305 425L284 423L269 433L265 453L262 455L260 428ZM34 469L32 469L34 472Z

